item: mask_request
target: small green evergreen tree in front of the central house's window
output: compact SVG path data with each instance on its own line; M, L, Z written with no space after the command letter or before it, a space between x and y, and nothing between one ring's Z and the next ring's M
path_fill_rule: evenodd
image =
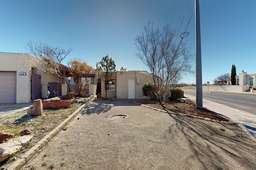
M104 81L105 98L107 98L107 86L110 81L116 79L116 64L108 55L102 57L101 61L96 63L96 72L98 77Z

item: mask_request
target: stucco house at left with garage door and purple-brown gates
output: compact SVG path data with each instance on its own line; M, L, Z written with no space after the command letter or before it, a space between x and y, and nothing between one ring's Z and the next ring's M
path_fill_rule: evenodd
M49 91L49 82L60 82L58 96L67 94L68 85L65 80L38 68L26 66L24 58L38 59L30 54L0 52L0 103L29 103L38 98L45 99ZM66 78L71 76L67 69L63 71ZM89 89L89 93L95 95L96 86L90 86L92 89ZM50 93L53 94L52 91L50 90Z

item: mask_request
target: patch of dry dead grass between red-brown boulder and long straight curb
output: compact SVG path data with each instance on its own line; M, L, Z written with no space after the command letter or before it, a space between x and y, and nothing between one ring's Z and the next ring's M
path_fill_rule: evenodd
M32 131L31 135L33 135L33 138L29 145L18 153L18 156L21 156L67 119L67 117L74 113L82 104L83 103L73 103L68 108L45 109L40 116L28 116L27 111L5 116L0 121L0 132L20 136L20 131L26 128ZM0 162L0 166L8 163L7 161Z

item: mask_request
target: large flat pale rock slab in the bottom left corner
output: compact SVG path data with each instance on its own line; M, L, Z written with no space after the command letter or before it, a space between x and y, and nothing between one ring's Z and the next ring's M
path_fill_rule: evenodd
M10 139L6 143L0 144L0 162L24 149L31 139L32 136L26 135Z

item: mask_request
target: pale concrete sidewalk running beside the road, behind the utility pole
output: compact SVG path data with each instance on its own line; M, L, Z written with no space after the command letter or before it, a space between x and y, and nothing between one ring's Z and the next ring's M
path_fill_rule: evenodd
M193 102L196 102L196 96L189 94L185 94L184 96ZM207 109L232 119L256 141L256 115L206 99L203 99L203 107L206 107Z

